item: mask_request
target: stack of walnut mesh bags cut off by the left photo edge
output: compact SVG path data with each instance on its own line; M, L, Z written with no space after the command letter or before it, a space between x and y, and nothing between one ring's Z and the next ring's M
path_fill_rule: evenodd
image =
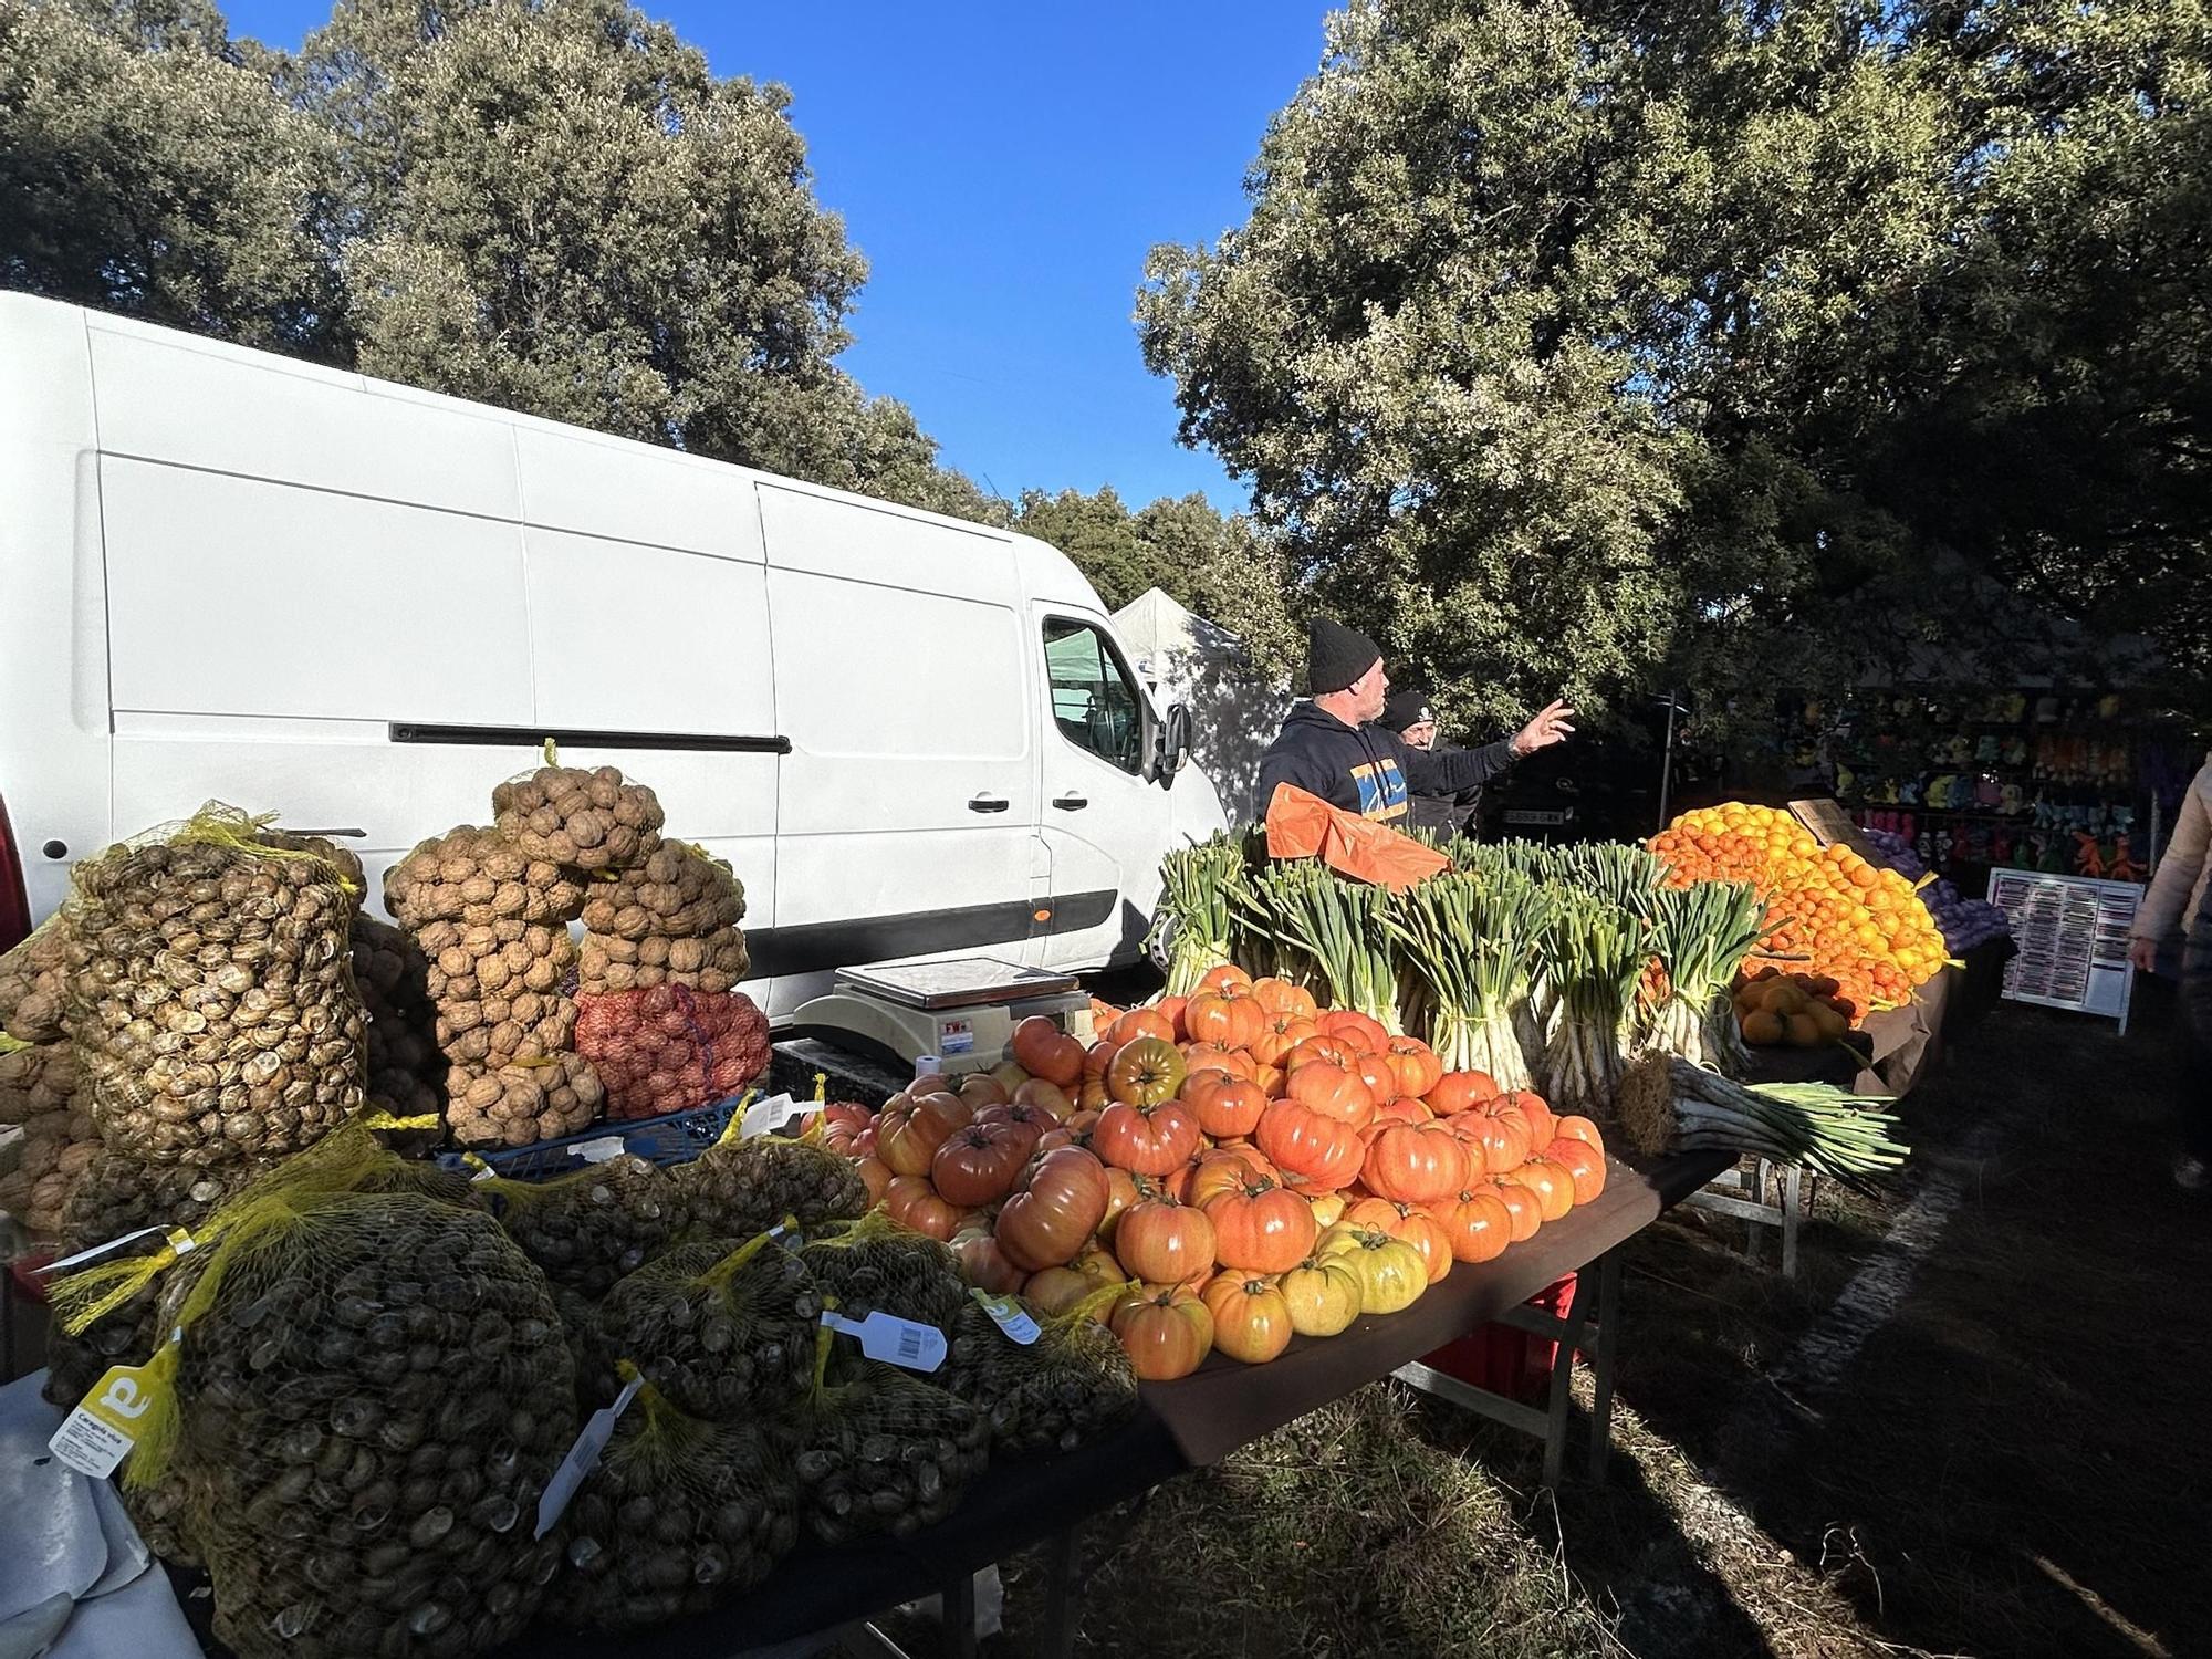
M20 1217L33 1239L55 1234L69 1186L97 1144L62 1031L62 956L60 920L0 956L0 1128L24 1133L15 1166L0 1175L0 1210Z

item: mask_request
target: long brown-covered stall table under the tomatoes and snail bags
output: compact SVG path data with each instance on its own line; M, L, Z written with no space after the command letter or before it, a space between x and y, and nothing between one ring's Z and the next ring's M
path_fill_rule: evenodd
M1239 1365L1214 1356L1188 1378L1148 1383L1137 1416L1115 1433L1057 1458L995 1464L969 1489L960 1509L911 1537L878 1537L834 1551L801 1548L776 1566L765 1586L730 1606L628 1639L540 1624L504 1648L502 1659L732 1659L849 1628L927 1595L945 1595L949 1628L971 1639L973 1624L962 1610L969 1606L973 1575L1037 1542L1048 1542L1053 1551L1046 1650L1068 1652L1075 1630L1075 1528L1084 1520L1172 1475L1210 1467L1285 1422L1509 1314L1568 1272L1604 1263L1666 1208L1710 1181L1728 1157L1679 1155L1650 1172L1617 1159L1608 1164L1606 1190L1597 1199L1546 1223L1535 1239L1513 1245L1495 1261L1460 1263L1405 1312L1363 1318L1327 1340L1294 1338L1270 1365ZM1599 1394L1593 1436L1601 1447L1610 1409L1610 1325L1617 1323L1608 1296L1617 1301L1617 1265L1601 1265L1599 1285L1595 1318L1604 1349L1595 1367ZM1573 1365L1573 1340L1562 1343L1562 1365ZM1555 1391L1551 1416L1562 1431L1548 1453L1555 1478L1566 1427L1564 1391Z

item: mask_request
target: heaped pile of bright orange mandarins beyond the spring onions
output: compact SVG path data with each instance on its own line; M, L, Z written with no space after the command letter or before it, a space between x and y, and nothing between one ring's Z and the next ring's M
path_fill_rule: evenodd
M1767 900L1767 931L1745 962L1836 980L1836 1000L1860 1024L1905 1002L1949 956L1936 918L1893 869L1845 845L1823 847L1781 807L1730 801L1683 812L1650 841L1674 887L1750 883Z

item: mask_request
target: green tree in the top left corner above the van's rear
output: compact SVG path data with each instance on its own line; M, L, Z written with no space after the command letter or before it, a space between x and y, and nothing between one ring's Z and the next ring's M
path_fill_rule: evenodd
M0 0L0 283L330 356L330 144L204 0Z

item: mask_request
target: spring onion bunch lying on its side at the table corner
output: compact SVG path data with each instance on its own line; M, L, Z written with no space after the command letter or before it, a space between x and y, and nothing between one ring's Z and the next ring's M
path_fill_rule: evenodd
M1832 1084L1743 1086L1652 1053L1621 1079L1617 1117L1644 1152L1752 1152L1860 1186L1905 1164L1887 1104Z

